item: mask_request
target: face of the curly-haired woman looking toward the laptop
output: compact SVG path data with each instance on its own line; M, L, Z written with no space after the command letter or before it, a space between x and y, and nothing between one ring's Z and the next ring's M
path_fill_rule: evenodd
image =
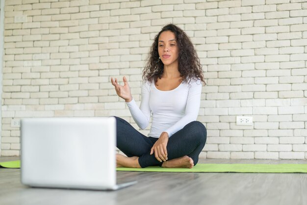
M178 63L178 46L172 31L163 31L158 39L159 57L164 65Z

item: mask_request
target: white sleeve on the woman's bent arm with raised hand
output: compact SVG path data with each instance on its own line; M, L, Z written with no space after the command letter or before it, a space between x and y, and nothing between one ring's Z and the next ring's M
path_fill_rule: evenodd
M150 86L148 85L148 81L142 82L141 97L140 107L137 106L133 98L132 101L126 104L137 126L141 129L145 129L149 125L151 115L149 106Z

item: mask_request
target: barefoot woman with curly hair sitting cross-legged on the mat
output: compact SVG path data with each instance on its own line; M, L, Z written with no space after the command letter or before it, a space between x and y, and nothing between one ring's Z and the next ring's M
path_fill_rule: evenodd
M124 86L111 77L139 128L153 117L148 137L116 117L117 147L128 156L117 154L117 166L192 168L206 141L206 128L196 121L205 81L193 44L178 26L166 25L155 36L143 79L139 108L126 77Z

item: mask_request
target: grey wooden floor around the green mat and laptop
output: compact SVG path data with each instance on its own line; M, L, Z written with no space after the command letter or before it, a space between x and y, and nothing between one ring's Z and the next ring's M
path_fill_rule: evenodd
M0 157L0 161L18 158ZM201 159L200 163L307 163ZM138 183L118 191L29 188L0 168L1 205L307 205L307 174L117 172Z

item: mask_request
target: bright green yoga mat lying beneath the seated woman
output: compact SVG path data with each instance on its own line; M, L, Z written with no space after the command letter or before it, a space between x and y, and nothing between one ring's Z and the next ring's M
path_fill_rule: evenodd
M0 166L20 168L20 161L0 162ZM197 164L192 169L155 166L142 169L118 167L116 170L134 172L307 173L307 164Z

